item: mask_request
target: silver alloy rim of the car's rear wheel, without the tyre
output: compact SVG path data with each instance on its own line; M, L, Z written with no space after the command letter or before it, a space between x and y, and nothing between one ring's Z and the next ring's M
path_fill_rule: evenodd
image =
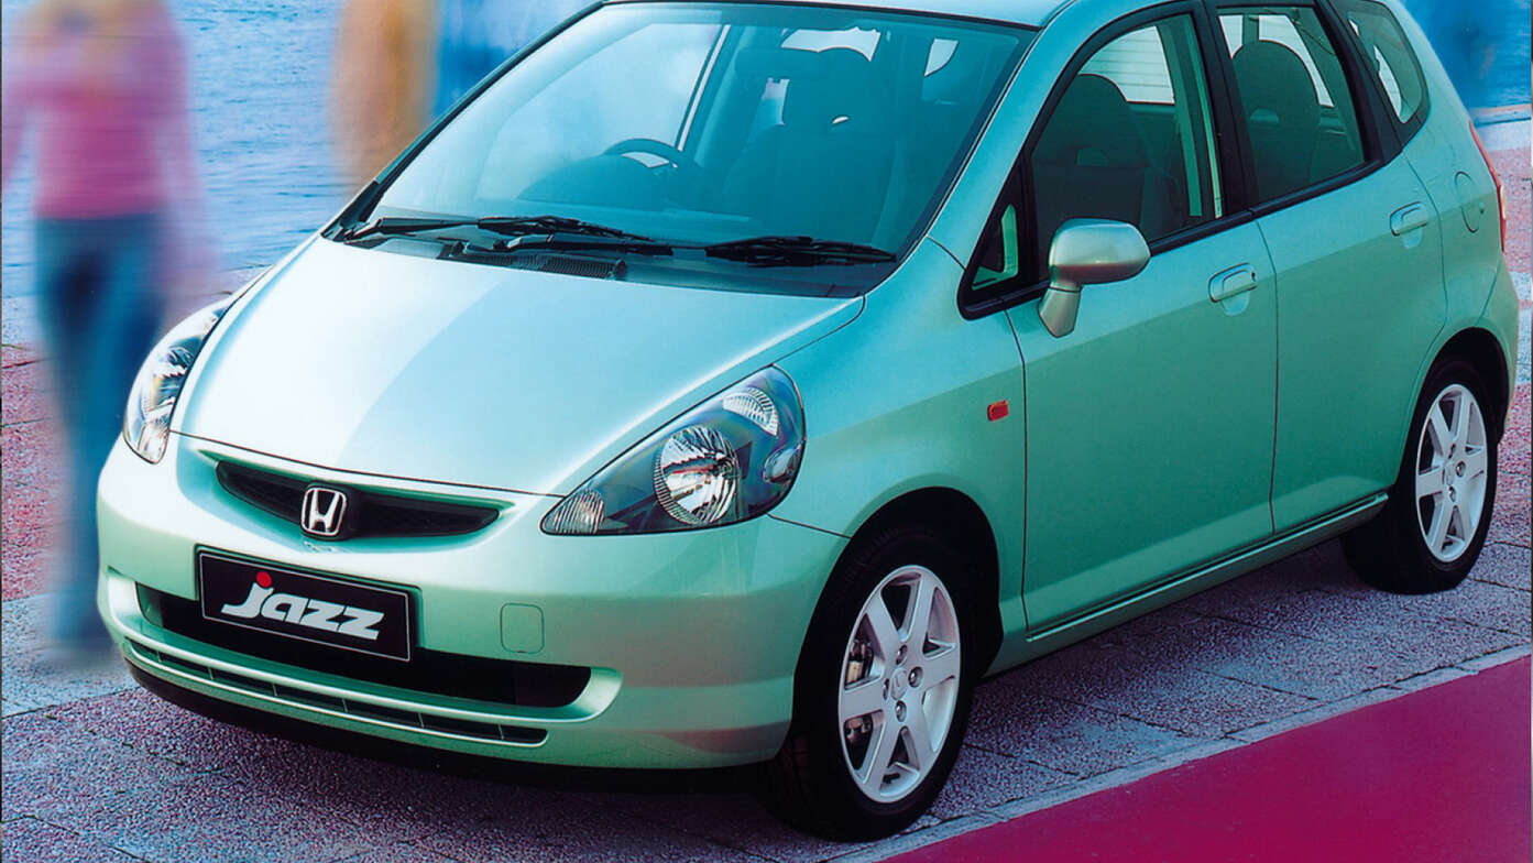
M1485 417L1473 392L1455 383L1432 402L1416 445L1416 526L1438 561L1459 559L1475 541L1489 469Z

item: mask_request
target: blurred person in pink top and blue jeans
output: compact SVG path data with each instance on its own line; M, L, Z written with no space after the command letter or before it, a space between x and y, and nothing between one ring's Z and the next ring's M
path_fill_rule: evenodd
M63 432L57 500L66 656L107 645L97 616L95 484L176 282L173 227L198 189L181 38L159 0L38 0L8 46L0 184L35 136L43 353Z

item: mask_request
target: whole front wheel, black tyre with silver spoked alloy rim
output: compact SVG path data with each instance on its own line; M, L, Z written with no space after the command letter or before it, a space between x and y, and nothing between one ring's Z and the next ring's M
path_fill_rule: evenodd
M763 803L780 819L826 838L871 840L909 826L937 799L978 671L969 572L926 527L881 530L843 556L799 658L788 739L763 771ZM927 595L918 655L914 609ZM883 757L889 769L875 769Z

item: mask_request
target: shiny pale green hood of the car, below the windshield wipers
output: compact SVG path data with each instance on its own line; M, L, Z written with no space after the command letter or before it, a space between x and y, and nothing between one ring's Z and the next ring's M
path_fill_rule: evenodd
M339 471L567 494L860 308L316 239L215 331L176 431Z

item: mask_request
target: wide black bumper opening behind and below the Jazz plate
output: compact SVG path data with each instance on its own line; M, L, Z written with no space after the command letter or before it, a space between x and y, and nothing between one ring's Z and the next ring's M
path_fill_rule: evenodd
M138 587L144 618L176 635L245 656L443 696L517 707L564 707L590 682L590 668L512 659L483 659L415 647L409 662L317 648L305 641L219 624L201 605L150 587Z

